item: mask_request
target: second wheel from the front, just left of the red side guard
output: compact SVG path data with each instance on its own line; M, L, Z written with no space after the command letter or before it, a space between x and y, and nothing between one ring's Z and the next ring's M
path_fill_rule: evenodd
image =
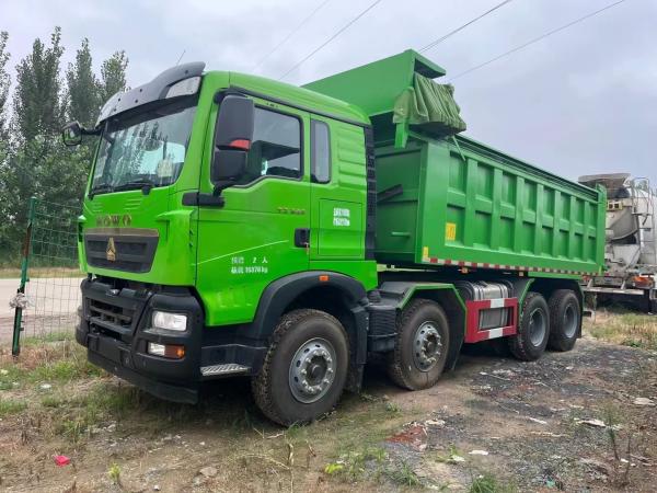
M420 353L417 353L415 347L418 337L426 341L426 351ZM388 375L404 389L419 390L433 387L442 374L448 349L449 323L445 311L435 301L415 299L397 317L396 344L394 351L388 354ZM427 358L423 365L418 358L427 354L436 360L431 363Z

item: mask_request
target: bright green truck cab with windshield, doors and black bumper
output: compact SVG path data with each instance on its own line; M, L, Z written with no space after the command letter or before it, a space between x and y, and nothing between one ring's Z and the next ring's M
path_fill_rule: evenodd
M348 298L362 319L377 284L368 117L203 70L178 66L105 104L79 219L78 341L92 363L184 402L204 378L258 369L258 325L300 293Z

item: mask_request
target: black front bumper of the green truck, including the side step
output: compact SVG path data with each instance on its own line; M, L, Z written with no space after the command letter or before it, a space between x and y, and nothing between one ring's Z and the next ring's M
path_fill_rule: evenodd
M240 326L205 328L188 288L131 288L113 279L84 279L76 340L90 363L155 397L196 403L204 380L260 371L266 345L240 339ZM184 332L151 328L153 310L187 316ZM181 359L148 354L148 343L185 346Z

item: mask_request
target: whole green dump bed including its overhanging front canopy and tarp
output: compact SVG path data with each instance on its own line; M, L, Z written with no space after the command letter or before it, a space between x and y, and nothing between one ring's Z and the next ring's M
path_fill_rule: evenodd
M552 273L546 275L600 272L604 191L456 136L462 128L456 124L450 131L449 124L458 106L429 101L430 87L425 90L427 79L435 84L430 79L442 74L408 50L307 85L370 115L377 260ZM443 108L445 117L431 116L431 108Z

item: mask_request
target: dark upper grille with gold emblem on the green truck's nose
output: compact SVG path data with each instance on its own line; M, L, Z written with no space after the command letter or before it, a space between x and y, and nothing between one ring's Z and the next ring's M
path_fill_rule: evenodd
M87 262L94 267L145 273L151 270L158 231L151 229L91 229L84 234Z

